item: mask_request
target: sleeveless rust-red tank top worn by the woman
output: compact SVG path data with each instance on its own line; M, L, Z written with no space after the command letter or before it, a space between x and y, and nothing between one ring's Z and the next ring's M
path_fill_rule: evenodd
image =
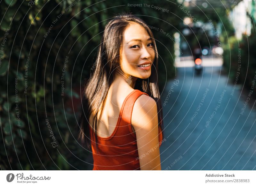
M133 90L125 98L116 128L107 138L98 137L98 153L94 132L90 126L93 169L92 170L140 170L139 154L137 149L136 134L132 131L131 118L132 108L137 98L147 93ZM159 132L159 146L163 140L161 127Z

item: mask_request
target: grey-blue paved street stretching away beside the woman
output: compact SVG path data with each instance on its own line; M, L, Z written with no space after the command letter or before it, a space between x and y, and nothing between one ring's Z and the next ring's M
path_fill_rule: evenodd
M244 106L249 91L237 85L232 94L234 82L221 67L204 67L201 76L176 69L161 95L162 170L256 170L255 100Z

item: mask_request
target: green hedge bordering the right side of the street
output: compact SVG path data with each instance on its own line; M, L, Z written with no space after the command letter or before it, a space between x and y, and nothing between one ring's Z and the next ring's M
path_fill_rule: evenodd
M230 69L230 82L235 84L238 79L237 84L244 86L245 90L252 90L252 81L256 75L256 53L253 52L255 47L256 34L253 29L250 36L243 35L239 41L235 36L229 37L229 43L224 47L223 65L227 72ZM253 92L255 91L256 86L254 85ZM253 95L255 96L255 93Z

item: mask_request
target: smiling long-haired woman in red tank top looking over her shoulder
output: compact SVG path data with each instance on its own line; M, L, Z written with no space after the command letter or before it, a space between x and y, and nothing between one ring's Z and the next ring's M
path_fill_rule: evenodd
M161 170L157 59L143 20L122 15L106 25L79 122L79 138L92 147L93 170Z

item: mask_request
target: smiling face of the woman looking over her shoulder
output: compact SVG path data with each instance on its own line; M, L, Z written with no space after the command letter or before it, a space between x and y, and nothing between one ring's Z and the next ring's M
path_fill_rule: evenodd
M125 74L141 79L150 77L155 51L145 28L134 22L126 27L120 57Z

